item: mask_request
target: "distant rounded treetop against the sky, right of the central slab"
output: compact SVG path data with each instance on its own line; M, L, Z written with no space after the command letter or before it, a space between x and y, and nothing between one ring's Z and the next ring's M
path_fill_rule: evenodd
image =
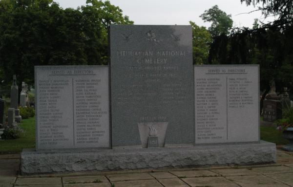
M219 9L218 5L212 6L209 10L200 15L205 22L211 22L209 32L213 37L220 36L221 34L228 35L233 25L231 15Z

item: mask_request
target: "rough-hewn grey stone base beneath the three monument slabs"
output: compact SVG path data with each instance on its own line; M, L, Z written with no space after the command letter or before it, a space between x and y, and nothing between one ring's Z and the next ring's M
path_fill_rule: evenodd
M274 163L276 145L260 143L112 150L23 150L21 173Z

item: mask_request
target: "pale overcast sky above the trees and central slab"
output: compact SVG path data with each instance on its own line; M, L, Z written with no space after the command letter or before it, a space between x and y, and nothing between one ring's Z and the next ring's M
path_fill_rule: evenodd
M54 0L63 8L77 8L86 0ZM127 15L136 25L188 25L189 21L199 26L209 27L199 16L213 5L227 14L231 14L233 26L252 27L254 19L267 23L274 18L264 19L257 6L241 4L240 0L110 0L111 4L119 6L123 15ZM244 14L243 14L244 13Z

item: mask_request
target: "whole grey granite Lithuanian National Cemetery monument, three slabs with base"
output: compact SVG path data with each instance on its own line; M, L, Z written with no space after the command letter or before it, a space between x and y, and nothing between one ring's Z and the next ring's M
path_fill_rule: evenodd
M259 138L259 66L193 66L190 26L111 25L109 45L108 67L35 67L23 174L276 161Z

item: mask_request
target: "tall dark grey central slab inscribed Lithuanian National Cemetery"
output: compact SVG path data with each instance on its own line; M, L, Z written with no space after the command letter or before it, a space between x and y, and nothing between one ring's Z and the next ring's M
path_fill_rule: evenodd
M193 144L190 26L111 25L112 146Z

